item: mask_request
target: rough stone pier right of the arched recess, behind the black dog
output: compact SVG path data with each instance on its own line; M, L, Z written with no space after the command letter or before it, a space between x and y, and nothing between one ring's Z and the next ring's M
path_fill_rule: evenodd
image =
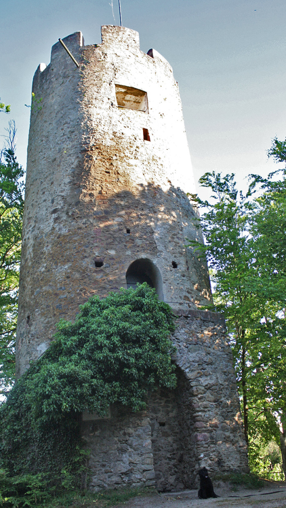
M173 335L175 363L188 379L178 399L181 422L187 429L184 483L194 485L196 472L206 466L210 473L248 471L247 448L240 417L235 371L223 317L189 310L177 319ZM186 404L189 399L189 405ZM182 424L181 424L182 425ZM186 469L193 457L195 468Z

